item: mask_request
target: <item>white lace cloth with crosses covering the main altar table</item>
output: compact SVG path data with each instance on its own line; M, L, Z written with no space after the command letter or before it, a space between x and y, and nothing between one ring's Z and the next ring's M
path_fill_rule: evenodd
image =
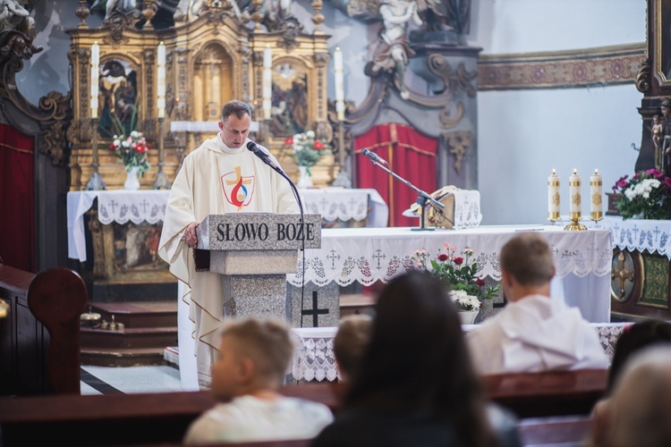
M592 323L610 321L610 232L603 229L565 232L555 225L494 225L463 230L413 231L412 228L324 229L321 249L305 251L305 281L324 285L335 281L344 286L353 282L384 283L415 268L415 249L436 254L447 242L458 250L470 248L483 276L501 279L498 255L501 247L517 232L538 231L552 249L556 278L552 296L581 309ZM295 286L302 283L302 259L297 274L288 274Z

